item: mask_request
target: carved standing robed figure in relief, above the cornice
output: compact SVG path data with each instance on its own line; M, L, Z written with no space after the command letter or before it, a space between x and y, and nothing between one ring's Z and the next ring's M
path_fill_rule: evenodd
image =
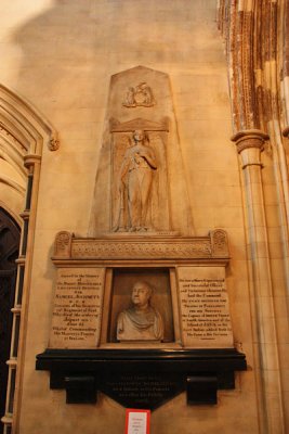
M148 137L143 130L133 132L133 146L124 154L119 171L120 206L115 231L147 231L147 214L152 193L153 173L157 169L154 150L146 144ZM127 204L127 227L120 228L121 213Z

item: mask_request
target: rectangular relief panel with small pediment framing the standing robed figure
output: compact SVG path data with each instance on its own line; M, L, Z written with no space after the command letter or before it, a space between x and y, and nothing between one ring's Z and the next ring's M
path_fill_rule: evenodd
M145 119L111 127L114 232L170 230L166 127L166 123L154 125L159 130L150 131Z

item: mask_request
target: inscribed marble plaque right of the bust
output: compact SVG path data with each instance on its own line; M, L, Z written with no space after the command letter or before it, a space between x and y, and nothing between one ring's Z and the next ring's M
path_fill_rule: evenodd
M223 267L179 267L181 324L185 347L233 347Z

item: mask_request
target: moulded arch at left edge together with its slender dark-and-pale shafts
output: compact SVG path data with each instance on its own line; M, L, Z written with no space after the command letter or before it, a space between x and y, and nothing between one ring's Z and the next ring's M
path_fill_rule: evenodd
M4 434L11 432L12 425L13 430L14 426L16 427L21 401L36 206L43 145L47 145L50 151L58 149L55 128L27 101L0 84L0 158L6 167L9 166L8 173L15 174L15 179L13 175L6 175L4 170L1 174L0 166L0 187L2 184L3 190L8 192L0 202L1 206L12 212L12 215L21 212L19 216L23 220L19 257L16 260L17 279L12 309L13 331L8 360L5 414L0 414L4 424ZM15 192L18 194L16 206L13 203Z

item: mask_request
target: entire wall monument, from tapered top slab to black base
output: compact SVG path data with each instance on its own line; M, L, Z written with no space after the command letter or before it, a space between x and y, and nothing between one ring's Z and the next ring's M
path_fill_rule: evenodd
M111 77L88 237L56 234L48 349L37 369L67 403L96 392L155 409L215 404L246 369L234 348L227 234L194 234L169 77Z

